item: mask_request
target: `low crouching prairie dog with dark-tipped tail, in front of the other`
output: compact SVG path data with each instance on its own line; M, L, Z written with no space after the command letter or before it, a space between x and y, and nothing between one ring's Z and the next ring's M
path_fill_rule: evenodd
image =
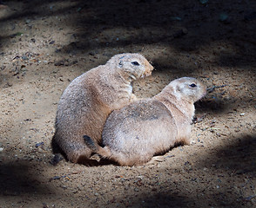
M113 111L102 133L104 147L88 135L84 135L84 142L95 153L121 166L142 165L177 143L190 144L193 103L205 94L205 85L195 78L171 81L152 99Z

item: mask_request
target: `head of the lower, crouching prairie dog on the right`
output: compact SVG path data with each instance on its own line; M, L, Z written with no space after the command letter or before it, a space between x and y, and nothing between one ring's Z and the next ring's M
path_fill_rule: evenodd
M199 101L206 94L205 84L192 77L182 77L171 81L167 88L170 87L173 88L178 99L182 98L190 102Z

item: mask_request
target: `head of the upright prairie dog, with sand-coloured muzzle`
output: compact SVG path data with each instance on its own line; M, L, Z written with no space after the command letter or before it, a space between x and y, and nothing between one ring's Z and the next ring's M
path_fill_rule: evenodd
M140 54L114 55L108 62L115 64L120 73L125 76L128 75L131 80L152 75L152 65Z

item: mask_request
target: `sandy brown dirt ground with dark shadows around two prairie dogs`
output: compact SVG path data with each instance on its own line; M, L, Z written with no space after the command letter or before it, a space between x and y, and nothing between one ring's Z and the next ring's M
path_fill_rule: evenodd
M256 207L255 1L0 3L1 208ZM134 83L138 97L182 76L212 88L193 145L145 166L52 166L64 88L124 52L156 69Z

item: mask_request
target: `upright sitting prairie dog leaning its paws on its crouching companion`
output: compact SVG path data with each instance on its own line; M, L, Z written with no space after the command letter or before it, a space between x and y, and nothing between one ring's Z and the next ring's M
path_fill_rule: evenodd
M131 82L151 75L152 69L143 55L120 54L71 81L58 103L53 146L60 147L71 162L86 164L91 149L83 135L100 142L111 111L136 100Z

